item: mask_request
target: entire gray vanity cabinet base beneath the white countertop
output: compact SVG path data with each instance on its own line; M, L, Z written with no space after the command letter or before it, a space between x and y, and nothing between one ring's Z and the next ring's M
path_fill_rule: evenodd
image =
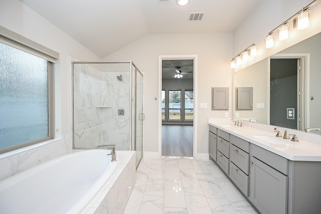
M232 133L210 126L210 156L259 213L321 213L321 161L288 160Z

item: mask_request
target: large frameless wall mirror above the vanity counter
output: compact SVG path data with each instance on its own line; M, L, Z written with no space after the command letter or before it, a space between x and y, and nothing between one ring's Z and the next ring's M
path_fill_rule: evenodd
M291 67L285 64L285 59L295 61L294 75L285 73ZM296 82L295 87L291 87L293 83L290 81ZM296 127L301 131L321 128L320 81L321 33L234 73L233 117L287 128ZM238 87L253 87L253 110L236 110L235 90ZM293 97L283 94L290 90L296 90L295 94L299 95ZM283 107L280 107L281 104ZM292 125L288 125L289 121ZM307 132L321 134L318 130Z

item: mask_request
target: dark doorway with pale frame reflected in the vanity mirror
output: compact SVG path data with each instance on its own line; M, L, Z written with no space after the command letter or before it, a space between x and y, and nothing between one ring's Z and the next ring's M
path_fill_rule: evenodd
M270 58L269 124L304 130L308 124L308 54Z

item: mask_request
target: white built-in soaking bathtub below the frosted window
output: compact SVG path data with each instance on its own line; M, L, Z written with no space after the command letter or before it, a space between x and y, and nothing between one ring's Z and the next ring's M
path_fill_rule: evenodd
M82 213L106 189L107 183L109 188L112 186L109 181L123 154L116 151L117 161L111 162L109 152L104 149L75 152L1 181L0 213Z

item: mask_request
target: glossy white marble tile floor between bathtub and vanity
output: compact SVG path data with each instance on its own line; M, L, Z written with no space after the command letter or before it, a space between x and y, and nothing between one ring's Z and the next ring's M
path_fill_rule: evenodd
M125 214L257 213L212 160L143 158Z

